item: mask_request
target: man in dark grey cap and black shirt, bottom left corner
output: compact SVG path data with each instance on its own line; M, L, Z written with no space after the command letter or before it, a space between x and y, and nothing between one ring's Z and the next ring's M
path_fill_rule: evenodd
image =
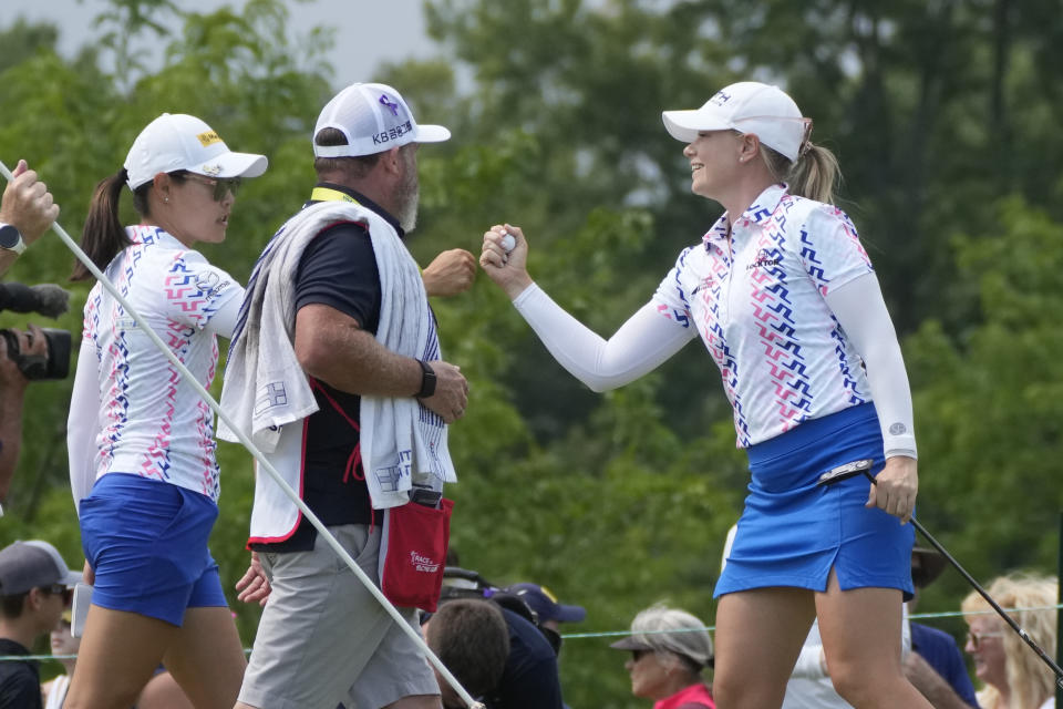
M0 551L0 655L29 655L69 605L69 589L81 580L48 542L16 542ZM0 709L41 707L35 661L0 662Z

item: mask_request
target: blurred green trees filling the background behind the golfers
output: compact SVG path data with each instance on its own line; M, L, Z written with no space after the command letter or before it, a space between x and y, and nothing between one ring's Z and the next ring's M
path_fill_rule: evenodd
M327 28L293 38L281 0L209 14L184 7L111 0L96 41L73 59L55 53L54 27L0 27L0 156L9 166L27 157L43 175L76 240L94 184L121 167L148 121L164 111L203 117L234 150L270 160L240 193L228 240L205 249L245 280L313 182L308 137L337 89L324 60L334 38ZM784 85L842 161L839 202L861 228L902 336L920 518L988 580L1053 569L1059 544L1057 10L1047 0L431 0L437 55L365 80L393 83L419 117L454 133L419 154L422 226L411 248L420 263L455 246L476 253L491 225L519 224L538 281L603 335L719 214L689 195L682 145L660 111L701 105L739 79ZM163 48L161 66L145 60L149 45ZM50 236L8 278L61 282L70 266ZM72 289L58 327L78 332L87 285ZM462 563L585 605L587 620L566 630L622 629L659 599L711 623L746 473L701 347L598 395L554 362L485 278L434 307L445 356L472 388L468 414L452 429ZM2 327L25 320L0 314ZM47 538L78 564L70 384L28 391L0 544ZM211 548L231 588L247 563L254 482L239 446L223 443L219 461ZM952 610L966 593L947 571L919 609ZM234 607L249 645L258 609ZM644 707L607 645L566 643L568 703Z

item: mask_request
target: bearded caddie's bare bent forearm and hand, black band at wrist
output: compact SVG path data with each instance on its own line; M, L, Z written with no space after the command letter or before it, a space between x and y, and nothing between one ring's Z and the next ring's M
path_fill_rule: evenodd
M296 315L296 357L303 370L330 387L352 394L413 397L421 390L417 360L392 352L358 320L336 308L310 304ZM456 421L468 403L468 383L461 370L434 361L435 393L422 400L444 421Z

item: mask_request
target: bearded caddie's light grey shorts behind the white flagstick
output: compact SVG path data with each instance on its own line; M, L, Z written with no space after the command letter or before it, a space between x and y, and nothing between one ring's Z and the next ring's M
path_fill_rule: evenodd
M378 582L380 525L329 527ZM258 624L240 701L259 709L378 709L438 695L427 660L320 536L312 552L260 553L272 592ZM400 608L421 633L417 610Z

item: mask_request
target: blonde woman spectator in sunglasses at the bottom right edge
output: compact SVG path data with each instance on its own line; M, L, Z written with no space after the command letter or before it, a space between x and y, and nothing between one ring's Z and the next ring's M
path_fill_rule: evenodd
M1043 648L1055 647L1057 583L1047 576L1000 576L989 595ZM1051 709L1055 707L1055 676L1018 633L992 613L978 593L960 604L969 626L963 649L974 661L974 676L985 684L978 692L982 709Z

